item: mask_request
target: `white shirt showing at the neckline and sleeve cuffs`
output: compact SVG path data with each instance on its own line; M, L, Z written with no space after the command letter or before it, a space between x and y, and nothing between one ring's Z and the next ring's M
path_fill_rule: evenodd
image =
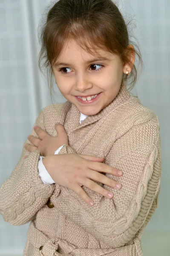
M80 124L81 122L86 119L86 115L84 114L80 114ZM55 154L58 154L61 150L61 148L63 148L63 145L58 148L58 150L55 151ZM49 175L49 172L46 170L46 167L43 165L43 158L42 156L40 156L39 161L38 161L38 173L40 176L40 179L43 181L43 183L47 184L47 185L51 185L53 183L55 183L55 181L52 179L52 177Z

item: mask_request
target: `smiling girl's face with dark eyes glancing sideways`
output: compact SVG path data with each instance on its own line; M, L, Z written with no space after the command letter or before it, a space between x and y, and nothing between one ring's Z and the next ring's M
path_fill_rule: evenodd
M72 40L63 47L53 66L58 89L64 98L88 116L99 113L115 99L123 73L126 73L127 68L131 72L131 68L124 65L119 56L104 50L98 52L106 59L96 58ZM87 101L87 96L98 93L101 94L96 99ZM86 101L79 101L76 96L85 97Z

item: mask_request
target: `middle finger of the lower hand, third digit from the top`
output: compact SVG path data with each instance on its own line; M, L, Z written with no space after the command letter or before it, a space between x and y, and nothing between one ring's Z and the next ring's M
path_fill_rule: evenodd
M121 189L121 184L120 183L118 183L115 180L110 179L109 177L107 177L107 176L105 176L105 175L103 175L99 172L95 172L95 171L90 170L89 176L90 176L89 177L90 179L98 181L100 183L103 183L103 184L105 184L107 186L110 186L114 189ZM107 192L107 190L105 190L105 192Z

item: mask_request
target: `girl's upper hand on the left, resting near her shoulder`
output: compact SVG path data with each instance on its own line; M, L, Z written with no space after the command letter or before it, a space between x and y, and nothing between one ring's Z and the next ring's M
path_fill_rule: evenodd
M29 152L40 150L41 155L43 157L46 157L49 155L53 155L55 151L63 144L69 145L68 136L63 125L61 124L55 124L55 130L58 133L57 137L50 136L49 134L47 134L46 131L41 129L39 126L35 126L34 130L39 138L36 138L32 135L29 135L27 137L29 141L34 145L32 146L29 145L28 143L24 145L24 148L26 148L26 150L28 150ZM26 159L26 157L24 157L24 159Z

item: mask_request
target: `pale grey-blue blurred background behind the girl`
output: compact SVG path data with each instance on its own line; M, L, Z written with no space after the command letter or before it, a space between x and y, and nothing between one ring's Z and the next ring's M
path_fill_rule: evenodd
M49 0L0 0L0 186L19 160L38 112L51 104L37 67L37 25ZM124 0L136 20L144 73L133 93L161 124L162 180L158 209L142 237L144 256L170 255L170 1ZM128 16L125 16L128 18ZM55 102L65 102L56 89ZM9 160L10 158L10 160ZM23 255L29 224L14 227L0 215L0 255Z

